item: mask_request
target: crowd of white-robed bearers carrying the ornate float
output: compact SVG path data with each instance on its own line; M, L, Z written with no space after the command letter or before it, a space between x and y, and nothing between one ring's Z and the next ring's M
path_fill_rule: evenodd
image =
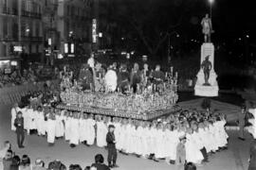
M105 147L108 127L113 125L121 153L154 161L165 159L168 163L201 164L208 161L210 153L227 148L229 138L224 116L210 110L181 110L152 122L35 105L23 109L16 105L11 115L12 130L16 130L16 119L22 118L27 134L36 131L39 136L46 136L50 146L56 139L64 138L70 147L95 143ZM23 135L18 137L20 147Z

